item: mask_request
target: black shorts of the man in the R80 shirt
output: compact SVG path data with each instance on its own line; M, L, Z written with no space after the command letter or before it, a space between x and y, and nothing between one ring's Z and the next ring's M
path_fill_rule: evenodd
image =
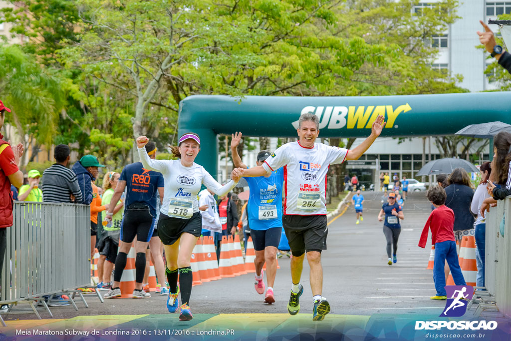
M121 240L131 243L133 239L148 242L152 235L156 219L149 212L146 204L131 204L124 211L121 223Z

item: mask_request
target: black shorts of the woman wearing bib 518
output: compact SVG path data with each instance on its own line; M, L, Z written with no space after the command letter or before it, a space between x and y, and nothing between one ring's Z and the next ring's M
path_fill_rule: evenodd
M181 237L182 233L189 233L200 237L202 232L202 215L195 212L191 218L182 219L169 217L160 212L158 220L158 237L164 245L172 245Z

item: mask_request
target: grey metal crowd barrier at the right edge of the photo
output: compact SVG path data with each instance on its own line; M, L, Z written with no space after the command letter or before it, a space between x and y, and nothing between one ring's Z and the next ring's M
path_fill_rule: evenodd
M485 287L499 311L511 317L511 196L486 213L485 253Z

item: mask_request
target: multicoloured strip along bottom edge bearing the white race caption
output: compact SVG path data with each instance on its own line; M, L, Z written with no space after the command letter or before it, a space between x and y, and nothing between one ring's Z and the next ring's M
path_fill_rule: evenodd
M180 322L177 314L87 315L7 321L1 331L16 340L511 340L509 320L498 321L493 330L425 329L417 321L454 326L459 320L436 314L413 319L406 314L329 314L320 322L313 322L311 314L195 314L192 321Z

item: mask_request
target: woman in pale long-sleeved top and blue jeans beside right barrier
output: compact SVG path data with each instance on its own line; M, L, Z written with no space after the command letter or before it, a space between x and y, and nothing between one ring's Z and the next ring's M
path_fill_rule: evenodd
M489 162L485 162L479 167L481 173L481 181L477 186L474 198L472 199L472 205L470 211L477 215L477 219L474 223L475 226L475 239L476 239L476 264L477 264L477 277L476 285L484 286L484 252L485 252L485 240L486 240L486 223L481 215L481 204L484 199L489 198L490 194L486 191L486 182L490 178L492 168Z

